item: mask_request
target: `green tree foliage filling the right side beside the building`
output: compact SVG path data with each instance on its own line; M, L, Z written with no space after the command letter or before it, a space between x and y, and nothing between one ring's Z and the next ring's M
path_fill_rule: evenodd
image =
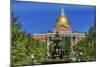
M96 27L90 28L86 37L78 42L74 48L77 61L95 61L96 60Z

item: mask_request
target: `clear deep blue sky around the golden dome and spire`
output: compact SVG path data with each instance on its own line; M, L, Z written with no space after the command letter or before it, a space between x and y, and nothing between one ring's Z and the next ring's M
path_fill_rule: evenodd
M95 6L18 1L11 6L13 14L19 17L22 29L31 34L53 31L61 8L64 8L73 31L87 32L94 24Z

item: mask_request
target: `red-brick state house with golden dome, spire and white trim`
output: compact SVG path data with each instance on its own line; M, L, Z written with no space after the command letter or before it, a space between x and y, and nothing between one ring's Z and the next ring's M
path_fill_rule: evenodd
M50 49L49 46L52 43L50 39L55 36L56 32L58 32L60 38L65 38L65 37L71 38L70 45L71 45L71 49L73 50L73 46L75 46L79 40L84 38L85 34L72 31L69 21L68 21L67 17L65 16L63 8L61 9L61 15L59 16L59 18L55 19L55 20L56 20L56 25L53 29L53 32L47 32L44 34L34 34L33 38L40 42L47 43L46 45L47 45L47 49L49 51L49 49Z

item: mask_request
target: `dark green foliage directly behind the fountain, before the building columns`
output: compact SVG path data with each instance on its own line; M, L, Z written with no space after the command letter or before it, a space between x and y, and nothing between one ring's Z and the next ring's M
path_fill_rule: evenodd
M63 37L62 40L56 44L56 47L60 47L59 50L61 51L61 59L65 58L65 57L69 57L70 55L70 37ZM55 58L55 43L53 42L52 44L50 44L50 54L51 54L51 58L54 59Z

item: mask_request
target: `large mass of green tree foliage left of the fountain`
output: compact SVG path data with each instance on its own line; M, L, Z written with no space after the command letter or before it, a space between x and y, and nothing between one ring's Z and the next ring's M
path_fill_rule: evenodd
M31 55L34 55L34 63L41 63L40 60L45 56L46 46L32 38L31 34L22 31L18 18L11 17L11 50L12 65L30 65L32 63Z

